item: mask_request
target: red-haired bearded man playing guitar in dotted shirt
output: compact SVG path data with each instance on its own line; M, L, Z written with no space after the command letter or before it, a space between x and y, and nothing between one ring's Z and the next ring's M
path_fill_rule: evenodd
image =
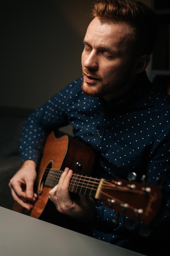
M97 151L97 177L127 180L133 172L138 182L146 175L151 184L157 184L158 177L166 180L165 202L146 238L139 234L141 222L127 229L125 214L118 215L91 197L71 198L69 166L49 198L57 211L82 226L88 224L93 237L149 255L153 249L157 252L155 239L162 243L170 223L170 97L153 88L145 72L157 35L155 13L133 0L97 1L92 13L84 38L83 77L26 120L20 141L23 164L9 186L14 200L33 208L36 166L46 136L71 124L74 137Z

